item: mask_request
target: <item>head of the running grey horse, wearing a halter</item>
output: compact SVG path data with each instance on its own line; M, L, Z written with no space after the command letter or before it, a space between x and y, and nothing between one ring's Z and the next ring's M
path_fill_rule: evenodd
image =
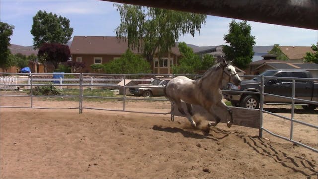
M235 71L235 68L232 65L228 64L225 59L223 59L221 63L223 64L223 79L228 78L229 82L233 83L236 86L239 86L242 80L239 78L239 75Z

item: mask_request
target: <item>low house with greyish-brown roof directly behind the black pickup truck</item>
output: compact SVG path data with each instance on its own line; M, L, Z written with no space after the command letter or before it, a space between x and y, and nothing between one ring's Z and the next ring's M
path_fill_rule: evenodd
M289 62L269 62L266 61L263 64L255 68L255 71L262 73L269 69L303 69L311 72L313 78L317 78L318 64L316 63L289 63ZM255 74L255 75L259 75Z

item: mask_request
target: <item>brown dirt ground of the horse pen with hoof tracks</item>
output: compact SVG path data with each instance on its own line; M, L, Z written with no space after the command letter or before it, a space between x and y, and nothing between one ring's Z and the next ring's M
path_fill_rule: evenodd
M2 94L2 93L1 93ZM1 106L30 106L29 97L3 97ZM84 102L120 110L123 103ZM79 107L33 99L33 107ZM283 107L283 108L281 108ZM290 117L288 106L266 109ZM128 101L125 110L169 112L166 101ZM317 126L317 109L295 119ZM200 126L207 121L197 118ZM290 136L290 121L264 115L264 127ZM293 139L317 149L318 131L294 124ZM317 179L318 154L258 129L220 123L210 134L184 117L84 109L4 108L0 111L0 178L302 178Z

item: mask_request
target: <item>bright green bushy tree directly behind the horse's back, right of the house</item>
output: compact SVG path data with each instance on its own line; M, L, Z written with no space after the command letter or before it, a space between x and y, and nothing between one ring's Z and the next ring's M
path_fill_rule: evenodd
M207 70L214 65L214 57L205 54L201 59L185 42L179 43L178 48L182 56L179 59L179 64L172 67L173 73L195 74L201 70Z

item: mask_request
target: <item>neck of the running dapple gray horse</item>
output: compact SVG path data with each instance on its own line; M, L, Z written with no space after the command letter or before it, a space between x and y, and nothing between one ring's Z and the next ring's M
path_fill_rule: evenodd
M210 69L207 73L205 73L198 81L200 86L203 87L203 89L208 90L216 90L219 89L222 82L222 68L219 67L216 70Z

